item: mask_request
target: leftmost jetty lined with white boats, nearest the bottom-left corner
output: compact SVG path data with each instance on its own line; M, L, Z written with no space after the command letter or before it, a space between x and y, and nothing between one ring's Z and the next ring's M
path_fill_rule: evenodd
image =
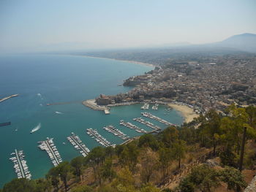
M11 153L11 155L14 155L10 158L12 163L14 164L13 168L15 169L15 173L17 174L18 179L20 178L26 178L28 180L31 180L31 173L29 172L29 166L27 166L25 161L25 155L23 153L23 150L16 150L14 153Z

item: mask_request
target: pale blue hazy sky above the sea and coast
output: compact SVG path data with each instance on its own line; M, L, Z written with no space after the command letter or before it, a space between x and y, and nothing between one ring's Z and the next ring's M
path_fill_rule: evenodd
M0 0L0 51L154 47L256 34L255 0Z

